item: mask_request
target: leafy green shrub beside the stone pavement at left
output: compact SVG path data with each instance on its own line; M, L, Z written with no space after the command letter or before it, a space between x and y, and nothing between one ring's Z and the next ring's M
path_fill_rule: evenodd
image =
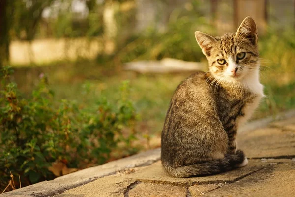
M54 103L54 93L43 74L31 99L24 99L10 80L12 72L8 66L1 70L1 189L10 172L20 175L25 186L55 178L48 169L53 163L75 168L103 164L118 144L131 147L136 114L128 99L128 82L123 83L116 105L98 98L94 106L83 107L66 99Z

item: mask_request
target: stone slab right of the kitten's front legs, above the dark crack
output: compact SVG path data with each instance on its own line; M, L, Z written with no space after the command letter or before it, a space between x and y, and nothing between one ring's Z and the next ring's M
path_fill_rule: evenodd
M248 158L295 157L295 132L264 128L237 134L237 146Z

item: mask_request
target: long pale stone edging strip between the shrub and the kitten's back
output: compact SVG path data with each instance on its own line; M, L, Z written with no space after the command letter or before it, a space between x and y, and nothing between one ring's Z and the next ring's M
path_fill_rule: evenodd
M71 188L87 184L98 178L115 174L117 171L152 164L160 159L160 152L161 150L158 148L103 165L89 167L51 181L43 181L1 194L1 197L53 196Z

